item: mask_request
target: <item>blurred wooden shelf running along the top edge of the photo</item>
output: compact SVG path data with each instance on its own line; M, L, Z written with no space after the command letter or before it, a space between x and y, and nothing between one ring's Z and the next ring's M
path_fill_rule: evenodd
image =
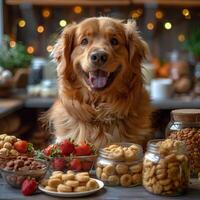
M200 0L6 0L6 4L33 4L45 6L127 6L131 4L159 4L165 6L200 6Z

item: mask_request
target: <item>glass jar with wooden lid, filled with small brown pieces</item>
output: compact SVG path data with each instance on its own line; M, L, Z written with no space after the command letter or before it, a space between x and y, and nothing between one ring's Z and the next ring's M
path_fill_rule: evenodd
M200 109L173 110L166 137L186 144L191 176L197 177L200 172Z

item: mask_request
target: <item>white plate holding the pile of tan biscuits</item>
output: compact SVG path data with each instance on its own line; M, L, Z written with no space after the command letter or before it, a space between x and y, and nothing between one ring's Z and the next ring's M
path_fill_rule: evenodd
M94 192L97 192L99 190L101 190L104 187L104 183L100 180L94 179L98 184L99 184L99 188L95 189L95 190L90 190L90 191L86 191L86 192L52 192L52 191L48 191L45 190L44 187L42 187L41 185L38 186L38 188L51 196L56 196L56 197L83 197L83 196L88 196Z

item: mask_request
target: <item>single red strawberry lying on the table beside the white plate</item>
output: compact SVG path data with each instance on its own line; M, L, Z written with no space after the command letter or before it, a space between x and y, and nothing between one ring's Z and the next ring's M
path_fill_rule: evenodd
M33 194L37 189L37 182L35 179L25 179L22 183L21 192L25 196Z

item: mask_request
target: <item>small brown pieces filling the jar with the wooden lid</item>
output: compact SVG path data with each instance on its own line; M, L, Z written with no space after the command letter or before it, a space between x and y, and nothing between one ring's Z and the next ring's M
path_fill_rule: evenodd
M197 176L200 172L200 128L184 128L174 131L169 134L169 138L183 141L186 144L191 174Z

